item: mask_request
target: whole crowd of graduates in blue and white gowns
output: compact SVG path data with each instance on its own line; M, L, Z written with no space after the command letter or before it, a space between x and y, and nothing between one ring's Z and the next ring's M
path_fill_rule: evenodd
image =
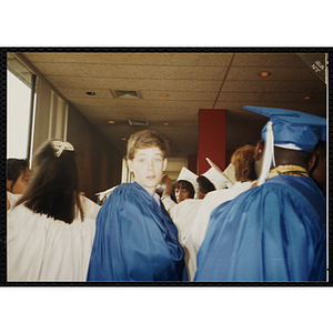
M165 140L140 131L127 151L134 182L101 205L79 192L71 143L46 142L33 176L9 159L8 281L326 281L326 120L244 108L269 122L223 172L209 160L173 185Z

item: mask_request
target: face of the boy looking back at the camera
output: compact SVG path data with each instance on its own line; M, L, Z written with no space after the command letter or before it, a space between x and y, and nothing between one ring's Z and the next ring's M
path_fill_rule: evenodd
M134 159L128 163L135 181L153 195L168 164L163 152L158 147L137 149Z

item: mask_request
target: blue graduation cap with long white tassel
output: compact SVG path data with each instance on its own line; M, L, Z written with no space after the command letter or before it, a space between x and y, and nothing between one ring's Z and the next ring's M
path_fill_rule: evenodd
M294 110L248 105L243 108L270 118L261 132L265 141L265 155L259 184L264 182L271 165L274 164L274 145L311 152L319 140L326 141L325 118Z

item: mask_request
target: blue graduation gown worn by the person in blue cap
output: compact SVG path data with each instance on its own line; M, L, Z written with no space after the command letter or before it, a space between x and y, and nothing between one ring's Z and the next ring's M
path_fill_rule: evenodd
M313 180L271 178L212 212L194 281L326 281L325 232Z

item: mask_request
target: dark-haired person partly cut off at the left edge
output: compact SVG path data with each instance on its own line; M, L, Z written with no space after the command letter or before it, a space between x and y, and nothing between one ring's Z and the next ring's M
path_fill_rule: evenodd
M7 160L7 210L14 205L30 182L29 161Z

